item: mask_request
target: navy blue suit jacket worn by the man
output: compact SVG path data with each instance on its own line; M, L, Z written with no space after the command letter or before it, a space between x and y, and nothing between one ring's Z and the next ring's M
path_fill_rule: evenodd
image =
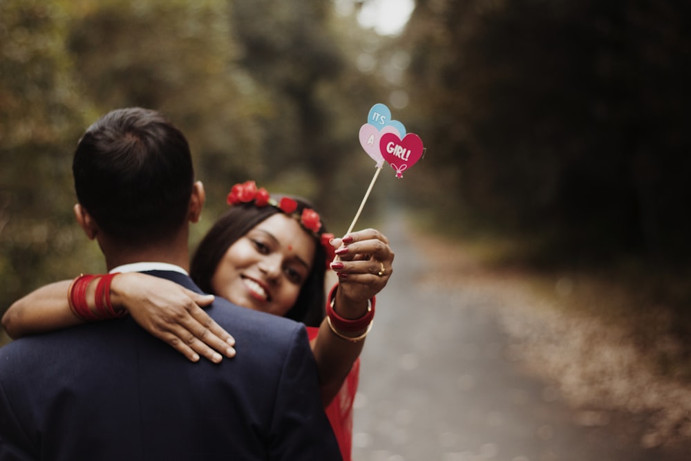
M0 461L341 460L304 326L218 297L207 312L233 359L192 363L129 317L0 348Z

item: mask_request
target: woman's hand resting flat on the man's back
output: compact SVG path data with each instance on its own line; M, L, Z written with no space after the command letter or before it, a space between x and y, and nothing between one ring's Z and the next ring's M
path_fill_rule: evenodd
M202 309L214 301L211 294L199 294L167 279L131 272L115 276L111 299L113 304L124 306L144 330L190 361L198 361L201 356L218 363L223 355L235 356L235 339Z

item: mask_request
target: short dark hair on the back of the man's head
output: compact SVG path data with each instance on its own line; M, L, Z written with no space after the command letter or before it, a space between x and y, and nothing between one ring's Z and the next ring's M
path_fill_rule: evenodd
M117 242L158 241L187 220L189 144L157 111L117 109L101 117L79 140L72 169L77 200Z

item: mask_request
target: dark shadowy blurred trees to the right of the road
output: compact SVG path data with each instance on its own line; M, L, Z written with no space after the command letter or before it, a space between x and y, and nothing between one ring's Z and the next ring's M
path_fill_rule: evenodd
M419 0L413 105L435 117L448 205L552 254L685 263L689 8Z

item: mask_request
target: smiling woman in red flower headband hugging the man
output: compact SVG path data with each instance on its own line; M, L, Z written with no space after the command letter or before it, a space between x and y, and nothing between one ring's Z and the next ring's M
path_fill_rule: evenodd
M191 276L205 292L307 325L325 411L344 460L350 460L357 357L372 325L374 296L392 273L394 254L388 240L375 229L332 239L307 203L287 197L276 200L251 181L234 186L228 202L231 208L193 256ZM333 253L339 255L337 261ZM327 317L325 263L339 278L330 293ZM234 355L228 347L233 339L199 307L213 298L146 274L118 274L110 283L114 306L126 308L143 328L189 359L203 355L220 361L216 351ZM82 306L91 315L97 312L93 286L97 284L82 285L83 299L94 300ZM74 304L75 291L79 292L71 281L40 288L10 307L3 326L10 336L19 337L82 323L88 316L79 316L68 302L73 299Z

